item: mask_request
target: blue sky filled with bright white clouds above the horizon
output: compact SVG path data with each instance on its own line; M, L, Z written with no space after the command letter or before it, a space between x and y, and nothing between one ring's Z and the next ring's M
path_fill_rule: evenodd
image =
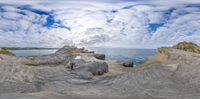
M0 46L200 44L200 0L1 0Z

